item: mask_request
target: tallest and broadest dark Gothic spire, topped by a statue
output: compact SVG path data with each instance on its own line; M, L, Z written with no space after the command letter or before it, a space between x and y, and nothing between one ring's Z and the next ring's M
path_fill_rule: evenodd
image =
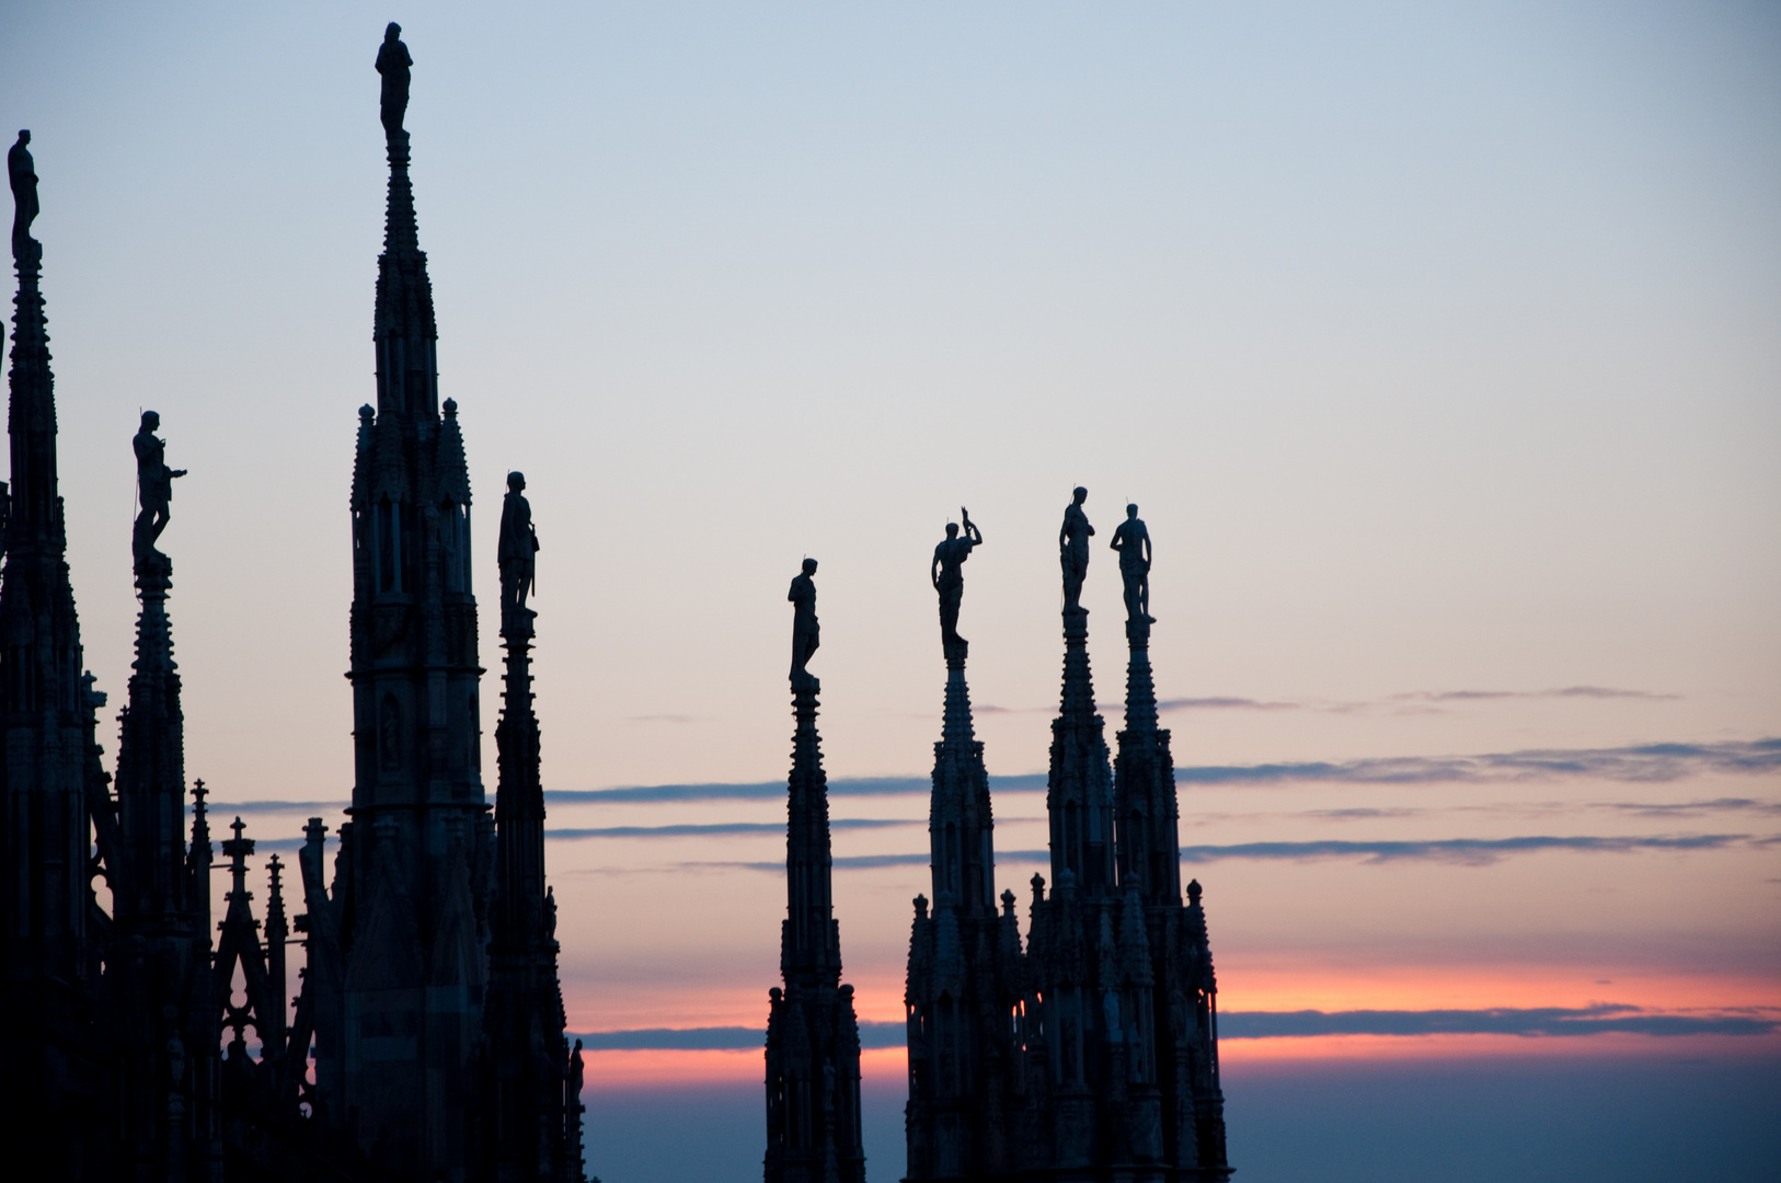
M351 670L354 784L333 889L305 848L315 1030L310 1096L329 1133L386 1169L459 1178L476 1146L493 820L481 779L470 481L458 406L440 403L436 326L401 119L411 61L378 53L390 162L358 422ZM313 866L312 866L313 864Z

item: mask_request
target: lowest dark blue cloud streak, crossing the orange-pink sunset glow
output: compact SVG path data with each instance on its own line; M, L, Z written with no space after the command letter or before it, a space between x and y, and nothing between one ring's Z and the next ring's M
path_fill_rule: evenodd
M1320 1035L1560 1035L1635 1033L1774 1035L1774 1012L1667 1014L1619 1003L1592 1007L1494 1007L1487 1010L1225 1010L1222 1039L1316 1039ZM766 1042L755 1026L638 1028L572 1035L590 1051L752 1051ZM901 1048L903 1023L860 1021L860 1048Z

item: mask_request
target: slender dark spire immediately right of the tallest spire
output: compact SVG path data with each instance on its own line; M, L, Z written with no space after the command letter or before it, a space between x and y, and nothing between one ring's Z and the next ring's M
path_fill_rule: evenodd
M509 508L513 508L509 494ZM524 501L524 497L522 497ZM525 508L527 526L531 508ZM508 531L504 531L508 533ZM527 543L531 531L527 529ZM533 613L502 629L506 684L495 752L495 887L490 909L488 1156L493 1179L582 1179L579 1074L565 1040L556 898L545 885L545 795L533 711Z

